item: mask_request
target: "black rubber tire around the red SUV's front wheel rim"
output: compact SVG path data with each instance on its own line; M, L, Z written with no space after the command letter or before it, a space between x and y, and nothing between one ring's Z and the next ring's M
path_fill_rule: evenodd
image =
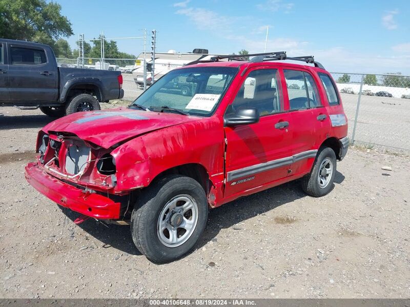
M180 195L189 195L195 200L198 216L196 227L191 228L191 235L187 236L187 240L181 245L168 247L160 239L159 217L170 200ZM165 215L163 216L165 220ZM199 183L186 176L167 176L154 182L138 198L131 216L132 240L137 249L149 260L156 263L174 261L195 247L205 229L207 219L207 196ZM171 227L171 223L168 222L167 225ZM179 230L180 228L176 228L176 231Z

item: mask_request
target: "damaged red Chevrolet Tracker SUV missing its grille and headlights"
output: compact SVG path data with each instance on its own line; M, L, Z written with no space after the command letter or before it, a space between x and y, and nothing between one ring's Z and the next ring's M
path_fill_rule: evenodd
M299 178L307 194L329 193L348 147L332 76L313 57L249 56L191 63L128 108L51 122L27 181L76 223L130 224L159 263L194 248L209 208Z

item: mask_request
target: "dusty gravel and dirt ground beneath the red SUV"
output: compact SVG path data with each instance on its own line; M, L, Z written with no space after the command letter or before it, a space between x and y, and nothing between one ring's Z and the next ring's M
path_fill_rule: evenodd
M329 195L292 182L234 201L211 211L197 250L156 265L128 227L76 226L31 188L23 169L49 118L0 112L0 297L410 296L408 157L351 149Z

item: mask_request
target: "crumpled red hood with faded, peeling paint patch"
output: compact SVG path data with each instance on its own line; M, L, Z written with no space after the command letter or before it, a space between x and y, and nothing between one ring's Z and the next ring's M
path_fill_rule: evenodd
M43 130L47 133L74 133L83 140L110 148L138 135L197 119L175 113L120 108L77 112L50 122Z

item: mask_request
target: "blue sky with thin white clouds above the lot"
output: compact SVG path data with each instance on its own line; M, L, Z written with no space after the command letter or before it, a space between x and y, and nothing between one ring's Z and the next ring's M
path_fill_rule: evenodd
M409 0L56 0L86 39L140 37L157 31L158 52L194 48L210 53L263 52L314 55L328 71L410 75ZM115 39L120 51L138 55L142 39Z

